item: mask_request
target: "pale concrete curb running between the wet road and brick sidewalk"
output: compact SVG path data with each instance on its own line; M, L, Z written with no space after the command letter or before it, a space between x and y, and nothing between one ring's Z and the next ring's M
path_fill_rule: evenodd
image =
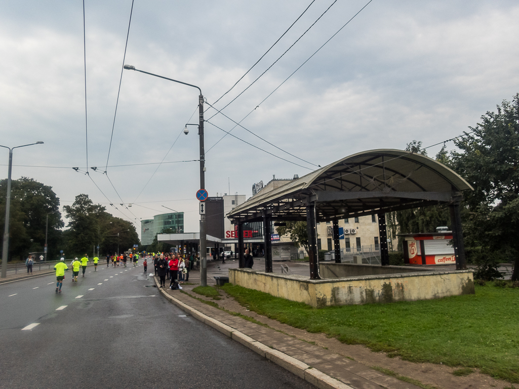
M196 309L189 307L189 305L170 296L165 289L159 288L157 277L154 276L153 280L155 281L155 285L157 286L162 296L166 297L166 299L182 309L184 312L192 315L199 321L207 324L215 330L222 332L222 334L227 335L229 338L236 340L238 343L243 344L245 347L267 358L271 362L274 362L291 373L294 373L297 377L308 381L320 389L354 389L351 386L328 376L322 371L312 368L300 360L291 357L290 355L287 355L276 349L271 349L269 346L266 346L265 344L258 342L251 337L248 337L242 332L237 331L234 328L218 322L216 319L213 319L212 317L204 315Z

